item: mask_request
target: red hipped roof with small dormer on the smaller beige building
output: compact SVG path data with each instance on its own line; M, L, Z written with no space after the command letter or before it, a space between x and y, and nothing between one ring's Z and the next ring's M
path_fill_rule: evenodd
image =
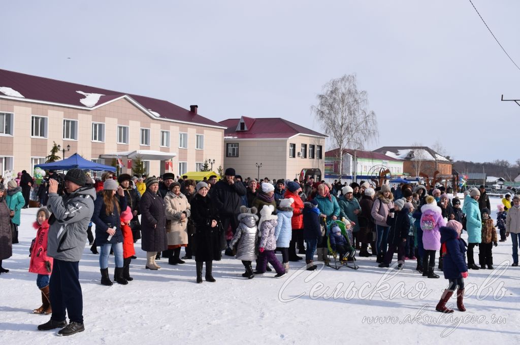
M297 134L308 134L313 136L327 137L314 130L297 125L279 117L244 117L244 122L248 130L237 131L240 118L228 118L220 121L223 126L228 127L224 130L226 137L237 139L261 139L261 138L290 138ZM254 121L251 121L254 120Z

